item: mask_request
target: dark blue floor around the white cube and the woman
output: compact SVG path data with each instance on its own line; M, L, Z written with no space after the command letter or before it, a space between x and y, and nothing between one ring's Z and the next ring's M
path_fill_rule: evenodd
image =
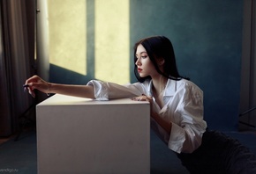
M225 134L236 138L256 154L256 134L237 132ZM34 129L24 131L18 141L15 141L15 137L12 136L10 139L2 139L2 142L0 144L0 173L37 173L36 132ZM151 174L158 173L187 174L188 171L181 165L177 156L151 132Z

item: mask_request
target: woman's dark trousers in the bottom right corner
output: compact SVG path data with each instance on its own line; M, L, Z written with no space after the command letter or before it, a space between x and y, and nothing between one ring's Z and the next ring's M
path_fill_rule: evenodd
M177 157L192 174L256 174L256 157L252 151L217 131L207 130L199 149Z

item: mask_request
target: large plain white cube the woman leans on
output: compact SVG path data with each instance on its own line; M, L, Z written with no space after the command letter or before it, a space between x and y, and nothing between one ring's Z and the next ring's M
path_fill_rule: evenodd
M39 174L150 173L150 106L55 95L36 106Z

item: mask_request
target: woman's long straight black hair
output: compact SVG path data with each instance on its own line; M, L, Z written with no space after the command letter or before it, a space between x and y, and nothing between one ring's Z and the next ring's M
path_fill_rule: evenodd
M134 74L139 82L142 83L146 79L151 79L150 76L139 76L138 67L135 64L137 61L136 51L139 44L145 47L147 55L149 56L151 62L153 62L154 67L159 74L174 80L180 80L184 78L178 74L175 54L170 40L164 36L153 36L139 40L134 46ZM159 58L164 60L163 72L158 68L156 62L156 59Z

